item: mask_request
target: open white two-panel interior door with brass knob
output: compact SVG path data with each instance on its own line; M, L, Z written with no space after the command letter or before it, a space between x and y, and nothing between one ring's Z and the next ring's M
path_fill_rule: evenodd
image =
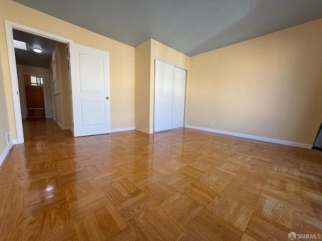
M111 133L109 53L70 43L74 137Z

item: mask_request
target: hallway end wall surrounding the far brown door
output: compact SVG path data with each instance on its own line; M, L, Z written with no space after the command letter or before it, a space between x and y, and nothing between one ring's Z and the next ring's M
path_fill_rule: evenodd
M48 69L17 64L17 73L18 73L18 80L19 80L21 113L22 113L23 118L26 118L25 94L24 94L25 85L24 85L23 74L34 75L34 76L43 76L46 118L51 118L52 117L51 100L50 100L51 93L50 93L50 81L49 81Z

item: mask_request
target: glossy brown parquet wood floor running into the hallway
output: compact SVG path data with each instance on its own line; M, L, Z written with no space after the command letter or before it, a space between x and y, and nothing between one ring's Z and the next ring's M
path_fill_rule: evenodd
M0 168L0 240L322 234L322 152L192 129L73 138L44 119L24 135Z

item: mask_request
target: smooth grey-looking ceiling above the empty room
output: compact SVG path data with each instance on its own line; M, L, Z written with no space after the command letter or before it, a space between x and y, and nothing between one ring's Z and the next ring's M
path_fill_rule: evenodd
M188 56L322 18L321 0L15 0L130 46Z

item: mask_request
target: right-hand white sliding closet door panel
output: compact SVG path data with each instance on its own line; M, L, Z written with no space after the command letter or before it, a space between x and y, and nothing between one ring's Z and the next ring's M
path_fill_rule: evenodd
M186 70L174 67L172 129L184 126Z

